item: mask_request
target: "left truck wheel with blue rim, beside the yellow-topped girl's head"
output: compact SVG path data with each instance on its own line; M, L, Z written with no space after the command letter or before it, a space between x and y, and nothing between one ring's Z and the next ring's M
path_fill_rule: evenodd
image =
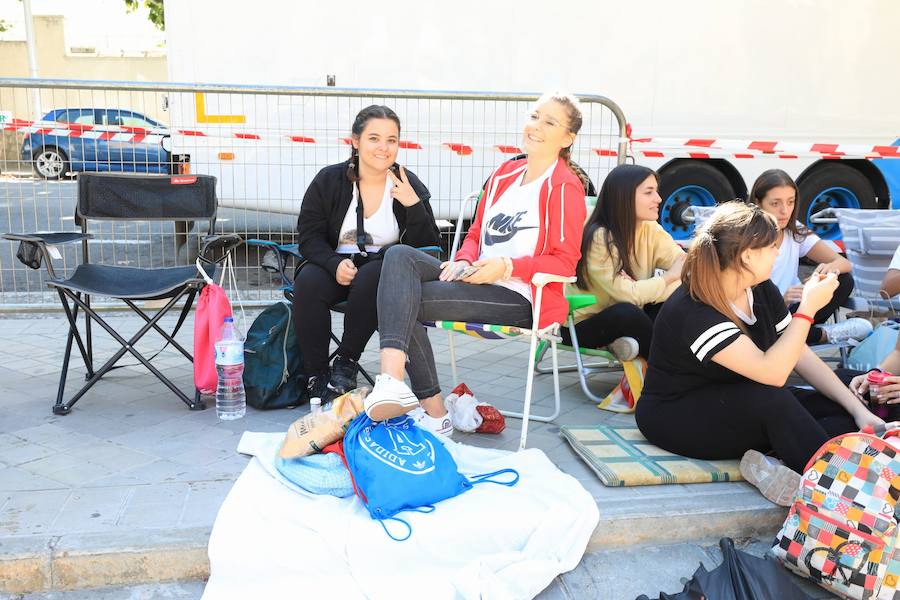
M683 161L660 173L659 222L676 240L694 235L693 221L684 220L689 206L715 206L734 200L734 188L715 167L699 161Z

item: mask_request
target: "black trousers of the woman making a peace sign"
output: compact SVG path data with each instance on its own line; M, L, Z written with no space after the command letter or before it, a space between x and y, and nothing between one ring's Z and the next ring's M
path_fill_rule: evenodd
M315 375L328 369L331 307L345 300L344 335L338 353L359 360L378 328L378 280L383 263L378 257L358 266L350 285L340 285L319 265L307 263L300 269L294 279L294 331L305 373Z

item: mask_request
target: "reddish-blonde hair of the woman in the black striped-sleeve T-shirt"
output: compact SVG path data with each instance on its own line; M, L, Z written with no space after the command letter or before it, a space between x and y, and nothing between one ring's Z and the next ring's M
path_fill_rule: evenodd
M744 202L725 202L704 223L688 250L681 283L691 298L722 313L746 333L722 286L728 269L749 271L741 262L747 249L765 248L778 239L778 224L772 215Z

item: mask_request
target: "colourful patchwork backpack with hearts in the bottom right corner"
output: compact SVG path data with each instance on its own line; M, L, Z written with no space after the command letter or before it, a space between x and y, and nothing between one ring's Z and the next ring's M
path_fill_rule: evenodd
M897 600L900 429L867 429L813 455L771 553L842 598Z

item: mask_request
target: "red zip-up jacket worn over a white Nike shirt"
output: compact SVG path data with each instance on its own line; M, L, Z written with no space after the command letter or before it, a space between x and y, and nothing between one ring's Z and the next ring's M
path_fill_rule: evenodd
M469 233L456 253L456 260L470 263L481 254L482 219L485 207L493 205L509 189L527 166L523 159L513 159L500 165L484 187L481 202ZM552 273L571 277L581 257L581 235L586 218L584 186L563 159L559 159L553 173L541 186L540 229L533 256L510 257L513 277L531 283L535 273ZM550 283L544 287L541 297L539 327L551 323L565 323L569 303L563 293L563 284ZM537 291L531 286L531 297Z

